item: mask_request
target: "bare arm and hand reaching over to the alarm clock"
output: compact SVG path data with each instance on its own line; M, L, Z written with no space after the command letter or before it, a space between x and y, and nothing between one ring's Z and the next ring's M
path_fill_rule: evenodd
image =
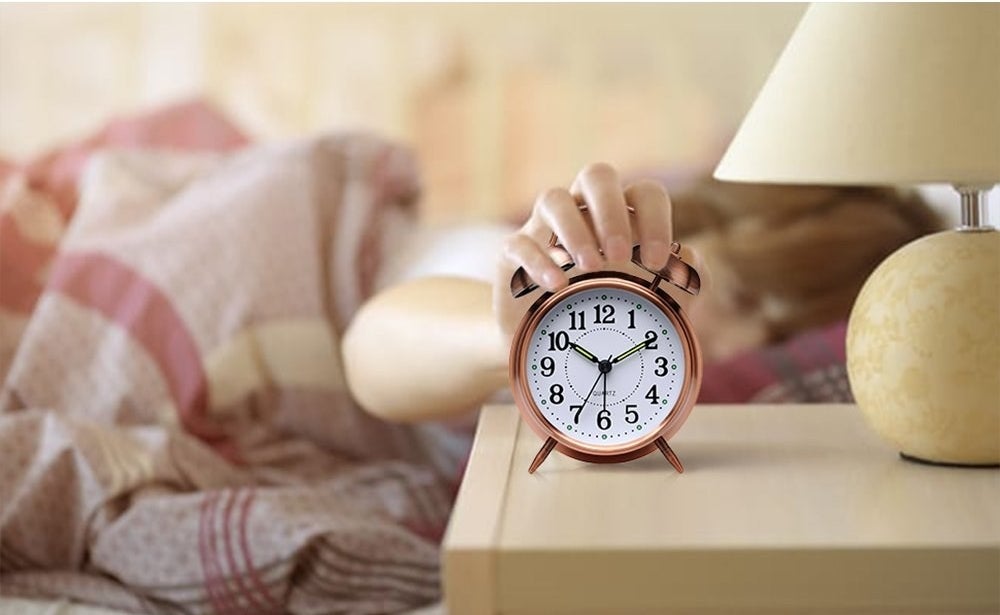
M492 302L490 285L457 278L418 279L369 300L343 344L354 398L395 421L447 418L477 407L506 385L511 335L533 300L511 297L515 269L524 267L543 290L564 287L568 278L547 250L553 233L579 270L626 267L635 240L643 262L659 269L669 255L670 220L670 200L659 184L623 189L613 167L586 167L569 190L544 191L528 222L506 240Z

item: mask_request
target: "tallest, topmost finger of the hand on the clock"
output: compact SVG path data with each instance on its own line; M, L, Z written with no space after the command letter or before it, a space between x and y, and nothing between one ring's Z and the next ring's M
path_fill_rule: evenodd
M591 164L573 185L574 194L589 207L604 257L612 263L627 262L632 254L632 231L618 172L609 164Z

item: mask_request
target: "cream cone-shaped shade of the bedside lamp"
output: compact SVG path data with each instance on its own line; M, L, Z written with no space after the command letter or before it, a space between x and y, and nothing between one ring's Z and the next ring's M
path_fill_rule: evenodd
M715 176L997 183L1000 5L813 4Z

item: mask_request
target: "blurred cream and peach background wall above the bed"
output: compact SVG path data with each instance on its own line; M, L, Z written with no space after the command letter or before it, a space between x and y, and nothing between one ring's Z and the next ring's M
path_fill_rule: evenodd
M252 136L410 143L433 221L584 163L709 168L804 5L0 6L0 156L207 97Z

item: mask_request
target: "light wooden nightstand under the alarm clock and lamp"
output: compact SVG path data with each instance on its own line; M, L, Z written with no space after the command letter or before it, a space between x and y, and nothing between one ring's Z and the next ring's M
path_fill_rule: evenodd
M698 406L659 455L553 453L483 409L449 612L1000 611L1000 471L901 460L850 405Z

